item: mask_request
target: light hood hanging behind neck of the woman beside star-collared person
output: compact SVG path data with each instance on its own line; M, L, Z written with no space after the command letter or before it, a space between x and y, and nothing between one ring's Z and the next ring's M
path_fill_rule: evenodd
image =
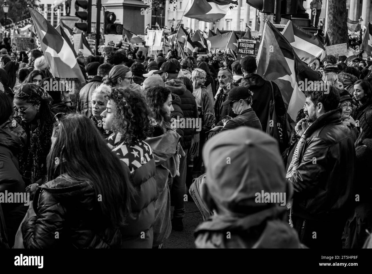
M173 130L168 130L160 136L150 137L145 142L150 145L154 152L156 165L163 164L177 152L177 144L181 136Z

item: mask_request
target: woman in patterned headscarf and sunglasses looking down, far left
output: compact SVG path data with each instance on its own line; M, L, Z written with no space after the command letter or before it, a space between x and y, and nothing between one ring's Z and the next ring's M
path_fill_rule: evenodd
M23 84L14 95L16 121L28 139L19 156L20 173L26 185L41 184L47 174L46 159L54 121L50 99L41 86L34 84Z

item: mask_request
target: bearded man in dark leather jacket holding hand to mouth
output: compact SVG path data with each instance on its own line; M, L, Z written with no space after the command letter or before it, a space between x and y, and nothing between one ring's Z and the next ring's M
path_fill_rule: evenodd
M321 85L305 95L308 119L295 127L301 139L286 174L295 191L290 219L309 248L341 248L355 195L354 137L341 122L337 88Z

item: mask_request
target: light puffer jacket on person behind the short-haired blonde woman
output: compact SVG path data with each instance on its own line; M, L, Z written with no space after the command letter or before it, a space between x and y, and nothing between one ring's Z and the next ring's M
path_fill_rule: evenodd
M77 97L78 103L76 107L76 112L80 112L87 117L92 114L92 94L94 89L97 88L102 84L102 77L101 76L94 76L92 80L83 88L80 89L79 95Z

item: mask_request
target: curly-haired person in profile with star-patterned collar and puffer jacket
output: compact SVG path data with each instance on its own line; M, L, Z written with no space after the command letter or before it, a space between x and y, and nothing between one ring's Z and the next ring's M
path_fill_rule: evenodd
M141 94L129 88L113 88L106 110L101 113L103 129L113 131L107 139L108 146L129 167L131 182L137 190L132 203L133 218L121 230L122 248L153 245L155 159L150 145L144 141L152 130L149 114Z

